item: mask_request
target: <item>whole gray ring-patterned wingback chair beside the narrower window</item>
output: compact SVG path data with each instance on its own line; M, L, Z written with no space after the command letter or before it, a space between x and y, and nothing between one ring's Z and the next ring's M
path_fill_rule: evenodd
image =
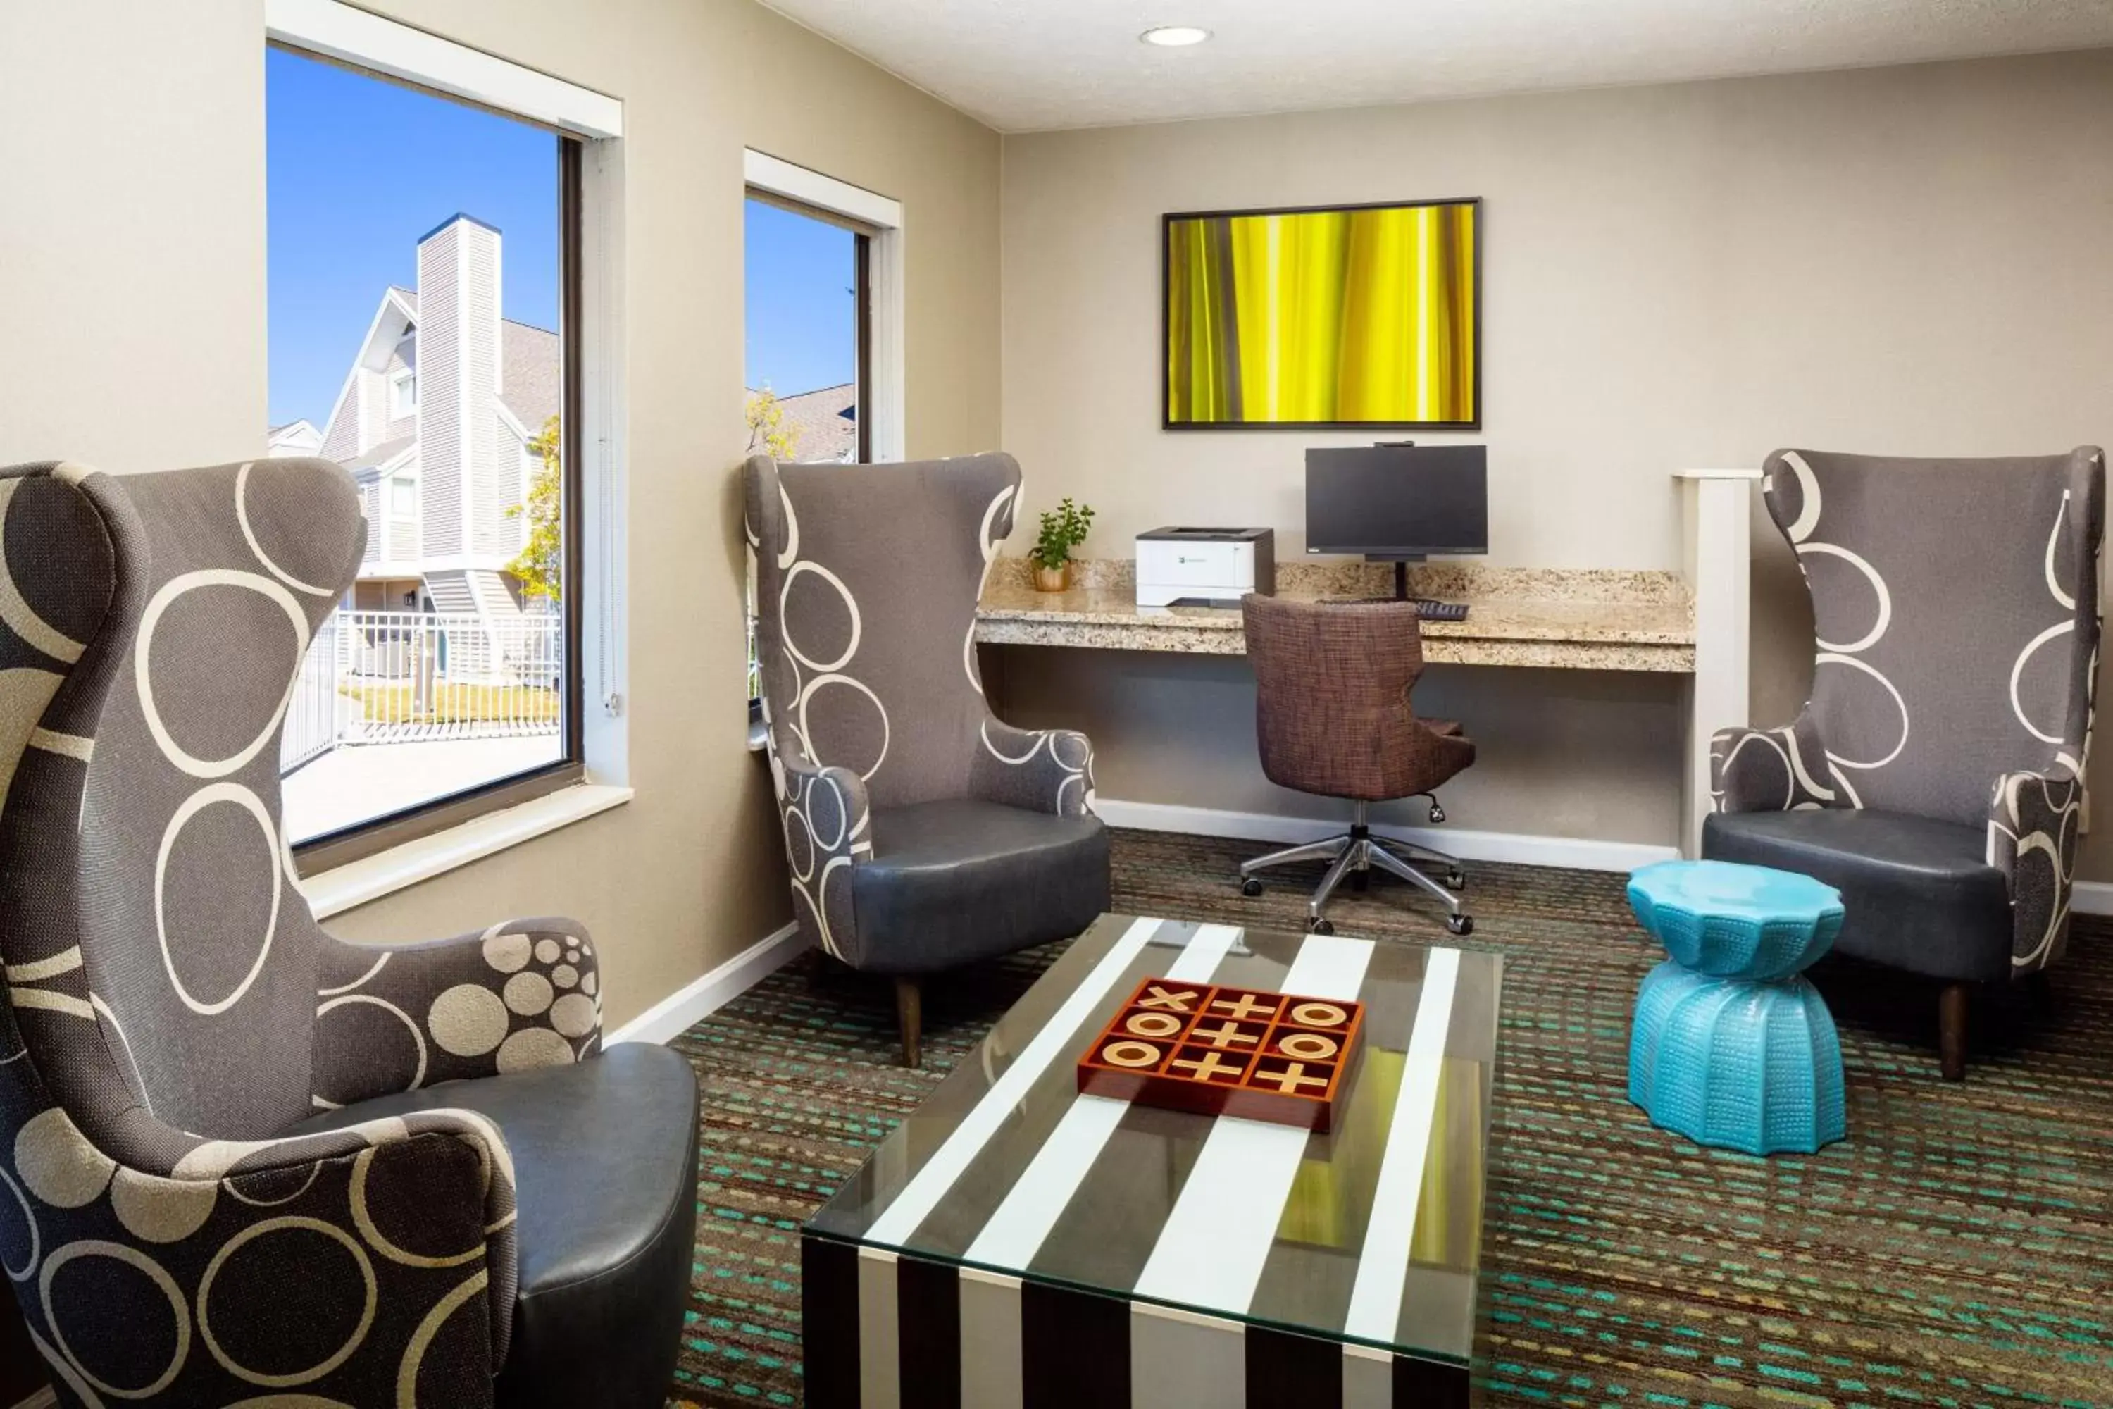
M1012 532L1010 454L748 461L756 655L792 915L826 955L917 976L1067 938L1107 908L1092 746L999 722L976 600Z

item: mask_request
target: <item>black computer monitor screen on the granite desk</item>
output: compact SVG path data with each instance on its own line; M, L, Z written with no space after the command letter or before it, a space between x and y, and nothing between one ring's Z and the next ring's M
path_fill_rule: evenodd
M1485 446L1306 452L1306 551L1420 558L1490 551Z

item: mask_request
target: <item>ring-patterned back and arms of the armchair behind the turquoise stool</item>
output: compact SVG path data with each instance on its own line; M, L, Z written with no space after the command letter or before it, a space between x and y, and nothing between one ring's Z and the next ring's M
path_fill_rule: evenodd
M2069 940L2096 720L2105 452L1779 450L1764 501L1813 598L1813 693L1709 741L1718 811L1870 807L1978 828L2009 965Z

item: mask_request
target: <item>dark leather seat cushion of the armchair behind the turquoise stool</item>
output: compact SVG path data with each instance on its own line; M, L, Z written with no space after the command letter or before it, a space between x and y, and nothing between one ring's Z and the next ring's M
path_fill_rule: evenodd
M1826 807L1712 813L1703 856L1775 866L1843 894L1834 948L1933 978L2009 974L2009 887L1978 826Z

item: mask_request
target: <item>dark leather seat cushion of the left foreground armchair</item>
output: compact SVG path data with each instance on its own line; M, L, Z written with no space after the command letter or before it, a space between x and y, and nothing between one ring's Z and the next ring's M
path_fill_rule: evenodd
M689 1063L668 1048L617 1044L575 1067L361 1101L294 1134L437 1107L488 1115L513 1153L520 1291L499 1403L659 1403L674 1379L697 1240Z

